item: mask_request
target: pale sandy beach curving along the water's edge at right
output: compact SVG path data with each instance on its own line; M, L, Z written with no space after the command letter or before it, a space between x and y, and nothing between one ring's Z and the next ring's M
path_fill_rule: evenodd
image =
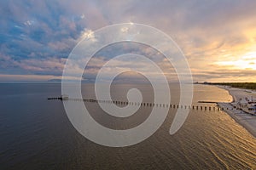
M256 92L253 90L245 90L241 88L230 88L226 86L218 86L218 88L224 88L229 91L230 95L233 97L233 102L231 103L218 103L218 105L224 108L224 111L228 113L236 122L238 122L242 127L245 127L249 133L256 138L256 116L247 114L246 111L237 110L235 106L240 100L244 102L246 99L256 99ZM245 109L246 110L246 109Z

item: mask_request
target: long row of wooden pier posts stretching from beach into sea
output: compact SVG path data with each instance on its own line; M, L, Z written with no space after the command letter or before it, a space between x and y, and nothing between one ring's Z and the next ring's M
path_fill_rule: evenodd
M61 97L56 98L48 98L51 99L62 99ZM165 108L173 108L173 109L189 109L189 110L200 110L200 111L224 111L229 110L229 108L215 106L202 106L202 105L177 105L177 104L154 104L154 103L140 103L140 102L128 102L128 101L119 101L119 100L100 100L100 99L71 99L68 100L73 101L84 101L90 103L105 103L105 104L115 104L115 105L139 105L139 106L148 106L148 107L165 107Z

